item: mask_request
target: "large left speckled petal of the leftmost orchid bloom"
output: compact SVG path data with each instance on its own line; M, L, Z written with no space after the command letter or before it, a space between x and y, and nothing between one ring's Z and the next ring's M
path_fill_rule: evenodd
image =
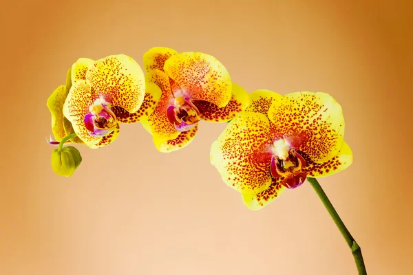
M89 130L85 125L85 115L89 113L89 106L96 97L96 92L87 85L85 80L78 80L73 83L63 104L63 115L70 121L78 137L89 147L94 146L101 139L101 137L89 135Z

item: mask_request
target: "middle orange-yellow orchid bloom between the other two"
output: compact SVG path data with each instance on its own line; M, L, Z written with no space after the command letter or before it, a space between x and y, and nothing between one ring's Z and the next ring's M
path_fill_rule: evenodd
M154 47L143 56L147 80L162 90L153 113L141 120L161 152L187 146L198 122L226 122L249 103L246 91L231 82L216 58L200 52L178 54Z

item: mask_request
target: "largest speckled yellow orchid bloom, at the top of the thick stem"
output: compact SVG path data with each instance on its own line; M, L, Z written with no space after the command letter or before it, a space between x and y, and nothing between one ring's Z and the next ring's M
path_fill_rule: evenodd
M211 163L251 210L307 176L332 175L352 163L341 107L328 94L258 90L250 98L212 144Z

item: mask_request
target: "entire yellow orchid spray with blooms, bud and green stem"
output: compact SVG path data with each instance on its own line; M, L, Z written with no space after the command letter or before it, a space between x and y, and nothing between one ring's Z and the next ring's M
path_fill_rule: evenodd
M93 61L79 58L66 84L47 99L52 115L52 169L70 177L82 162L73 142L100 148L116 140L120 123L141 122L160 152L190 144L200 120L229 122L211 145L211 164L241 193L247 208L260 210L306 179L348 243L359 274L367 274L361 248L341 221L317 177L352 164L344 142L341 106L332 96L308 91L281 96L252 94L232 82L215 57L153 47L138 63L123 54Z

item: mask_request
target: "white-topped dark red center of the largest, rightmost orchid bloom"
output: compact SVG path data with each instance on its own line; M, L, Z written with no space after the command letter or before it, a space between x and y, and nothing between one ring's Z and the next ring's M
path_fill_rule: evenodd
M295 148L284 139L273 143L273 157L271 158L271 175L275 178L284 177L282 184L286 188L296 188L304 183L307 173L302 171L306 160Z

